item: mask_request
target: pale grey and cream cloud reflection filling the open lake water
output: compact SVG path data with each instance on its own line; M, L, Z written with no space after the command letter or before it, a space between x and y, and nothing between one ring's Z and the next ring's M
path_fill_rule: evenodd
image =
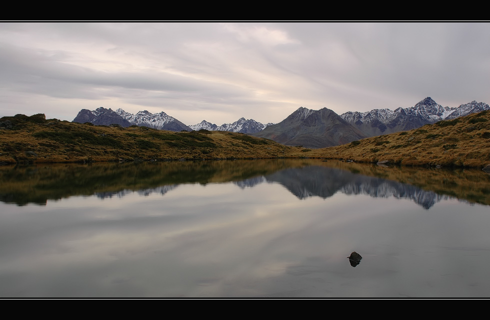
M487 208L478 218L451 203L452 211L438 206L422 223L421 207L393 197L353 200L337 191L327 201L301 201L283 184L262 180L268 183L243 190L228 182L182 184L165 196L158 188L108 201L91 196L85 205L72 197L42 211L3 205L0 295L488 295L485 252L474 260L478 255L450 249L485 247ZM155 196L138 195L149 190ZM346 259L352 250L363 256L355 268ZM434 251L444 258L434 259ZM447 275L464 265L464 277Z

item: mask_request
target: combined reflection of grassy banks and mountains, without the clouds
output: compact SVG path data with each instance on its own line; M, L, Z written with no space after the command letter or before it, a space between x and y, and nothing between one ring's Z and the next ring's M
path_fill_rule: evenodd
M417 186L402 183L407 180ZM46 205L48 199L73 195L95 195L99 198L123 197L128 193L163 195L181 183L230 181L240 188L263 182L280 183L300 199L309 196L327 198L342 192L409 198L424 208L430 208L447 197L490 205L490 175L486 173L380 168L315 159L0 167L0 181L0 201L17 205Z

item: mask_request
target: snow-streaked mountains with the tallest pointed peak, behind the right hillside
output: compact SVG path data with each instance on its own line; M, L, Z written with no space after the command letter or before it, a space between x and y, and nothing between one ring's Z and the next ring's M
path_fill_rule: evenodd
M458 107L441 106L432 98L426 97L407 108L373 109L367 112L345 112L340 115L367 136L376 136L398 131L406 131L440 120L449 120L459 116L490 109L488 104L476 101L461 104Z

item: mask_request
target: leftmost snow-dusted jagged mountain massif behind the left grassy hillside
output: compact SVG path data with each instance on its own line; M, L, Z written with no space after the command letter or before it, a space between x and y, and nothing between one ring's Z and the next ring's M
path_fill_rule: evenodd
M124 111L121 108L115 111L111 110L110 108L106 109L103 107L99 107L94 111L82 109L80 112L78 112L72 122L90 122L96 125L119 124L123 127L138 125L169 131L192 130L184 123L172 116L169 116L163 111L153 114L144 110L138 111L136 114L132 114Z

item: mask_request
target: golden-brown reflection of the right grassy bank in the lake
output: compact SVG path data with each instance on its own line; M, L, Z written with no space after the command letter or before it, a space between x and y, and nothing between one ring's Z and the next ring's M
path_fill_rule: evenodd
M454 196L469 202L490 205L490 174L479 169L384 167L375 164L326 160L325 166L369 176L377 176L418 186L438 194Z

